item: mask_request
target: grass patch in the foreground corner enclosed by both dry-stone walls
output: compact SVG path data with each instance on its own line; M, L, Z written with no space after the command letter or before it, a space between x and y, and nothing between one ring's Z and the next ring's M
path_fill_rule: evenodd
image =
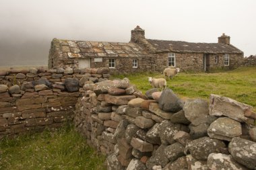
M0 147L0 169L106 169L105 157L73 128L5 138Z

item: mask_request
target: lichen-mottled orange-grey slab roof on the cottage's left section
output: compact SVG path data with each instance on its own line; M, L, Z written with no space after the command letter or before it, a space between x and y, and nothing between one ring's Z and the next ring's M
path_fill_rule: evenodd
M59 40L59 50L69 58L139 57L148 52L135 43Z

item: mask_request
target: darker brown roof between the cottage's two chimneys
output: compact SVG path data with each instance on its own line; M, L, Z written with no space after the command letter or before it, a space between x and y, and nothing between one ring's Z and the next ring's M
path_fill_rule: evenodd
M195 43L183 41L151 40L147 39L159 52L203 52L203 53L243 53L231 44L221 43Z

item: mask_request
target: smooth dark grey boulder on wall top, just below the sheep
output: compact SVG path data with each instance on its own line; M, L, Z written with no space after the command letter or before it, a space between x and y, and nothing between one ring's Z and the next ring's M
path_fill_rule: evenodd
M158 99L158 105L166 112L179 112L183 108L183 101L171 89L164 89Z

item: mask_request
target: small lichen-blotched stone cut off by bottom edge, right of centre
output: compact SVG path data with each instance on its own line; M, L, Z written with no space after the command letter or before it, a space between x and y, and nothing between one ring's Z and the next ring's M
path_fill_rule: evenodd
M193 170L208 170L207 162L203 160L197 160L192 157L192 155L187 155L187 167L188 169ZM210 169L209 169L210 170ZM217 169L216 169L217 170Z

